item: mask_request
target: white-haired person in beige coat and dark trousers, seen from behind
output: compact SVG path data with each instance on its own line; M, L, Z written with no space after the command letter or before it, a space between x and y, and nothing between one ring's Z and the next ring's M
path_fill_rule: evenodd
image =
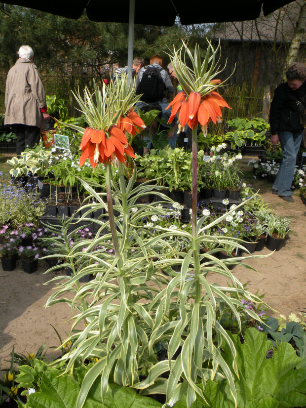
M44 87L33 62L34 52L23 45L18 55L19 59L7 74L4 119L4 123L16 131L17 156L39 143L41 121L49 118Z

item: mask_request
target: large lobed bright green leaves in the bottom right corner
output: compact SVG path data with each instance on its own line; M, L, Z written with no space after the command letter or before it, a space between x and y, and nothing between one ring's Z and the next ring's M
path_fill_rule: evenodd
M267 334L255 328L246 330L245 342L238 335L230 337L237 351L237 371L230 366L235 378L238 408L303 407L306 405L306 369L295 369L301 359L292 346L282 343L267 359L272 343ZM230 364L231 356L224 346L225 360ZM239 374L239 376L238 376ZM209 381L204 391L208 402L205 407L234 408L227 381Z

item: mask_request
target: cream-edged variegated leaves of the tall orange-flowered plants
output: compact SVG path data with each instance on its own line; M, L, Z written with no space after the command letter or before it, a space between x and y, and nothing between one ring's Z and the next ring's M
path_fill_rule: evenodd
M110 384L115 382L141 390L142 395L166 394L169 405L174 405L188 391L190 407L196 395L202 395L198 383L204 387L206 379L211 376L228 378L231 392L235 395L232 374L221 355L222 341L225 340L231 349L231 366L235 350L219 322L219 309L224 310L225 304L229 305L240 330L236 309L242 307L241 297L253 303L262 303L262 300L244 290L228 270L227 261L217 260L213 251L206 254L209 260L200 269L203 255L199 254L199 248L211 241L211 237L205 235L208 229L203 224L205 216L198 221L196 241L188 231L179 228L161 228L160 235L149 233L141 238L143 231L149 232L149 227L137 225L144 216L144 210L148 209L148 217L164 217L168 210L158 205L138 208L136 200L151 192L153 187L145 183L133 189L136 172L126 185L122 166L119 165L118 171L120 184L114 180L112 183L114 209L118 214L115 224L119 256L115 256L114 247L109 242L112 235L100 236L108 223L96 220L100 229L93 239L70 245L64 220L64 242L61 245L69 250L64 256L70 260L78 258L79 267L77 271L73 269L71 277L55 277L52 280L59 285L47 301L47 306L65 302L73 310L78 310L72 318L71 333L65 340L65 344L72 342L69 353L61 358L67 364L65 372L73 370L79 361L98 360L84 377L76 407L83 407L86 395L99 378L102 401L105 401ZM96 193L89 182L83 181L83 184L97 203L97 208L107 209L105 193ZM160 203L166 203L163 195ZM226 216L211 222L209 227L222 222ZM86 219L84 217L80 220ZM178 239L185 239L190 249L178 252ZM222 236L215 236L214 240L219 245L229 241ZM99 245L109 250L102 251ZM169 248L169 251L165 253L164 248ZM58 256L61 256L60 250ZM215 263L218 267L214 266ZM174 265L181 268L180 273L172 269ZM161 269L167 275L161 273ZM194 270L198 272L191 273ZM210 284L206 276L211 271L227 277L233 287ZM79 279L89 274L94 274L95 279L80 286ZM62 298L67 290L73 296ZM231 299L232 293L238 293L238 299ZM259 319L253 310L245 309L245 312L253 319ZM77 325L83 322L85 328L80 331ZM161 344L166 346L167 355L158 361ZM181 353L175 360L174 355L180 347ZM169 377L164 378L162 374L169 369Z

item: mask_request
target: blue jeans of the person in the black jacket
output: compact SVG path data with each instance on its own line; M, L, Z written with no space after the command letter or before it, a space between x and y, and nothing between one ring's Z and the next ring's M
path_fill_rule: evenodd
M279 196L291 196L291 185L294 175L297 154L300 149L303 130L298 132L279 132L278 137L283 151L283 160L278 169L273 189Z

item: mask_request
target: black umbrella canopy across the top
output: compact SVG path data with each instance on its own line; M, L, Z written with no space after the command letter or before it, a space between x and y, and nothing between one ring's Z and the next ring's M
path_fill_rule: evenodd
M135 24L172 26L177 16L181 24L217 23L253 20L260 15L262 4L268 15L292 0L135 0ZM116 23L129 22L129 1L116 0L8 0L16 4L73 19L79 18L84 9L92 21Z

